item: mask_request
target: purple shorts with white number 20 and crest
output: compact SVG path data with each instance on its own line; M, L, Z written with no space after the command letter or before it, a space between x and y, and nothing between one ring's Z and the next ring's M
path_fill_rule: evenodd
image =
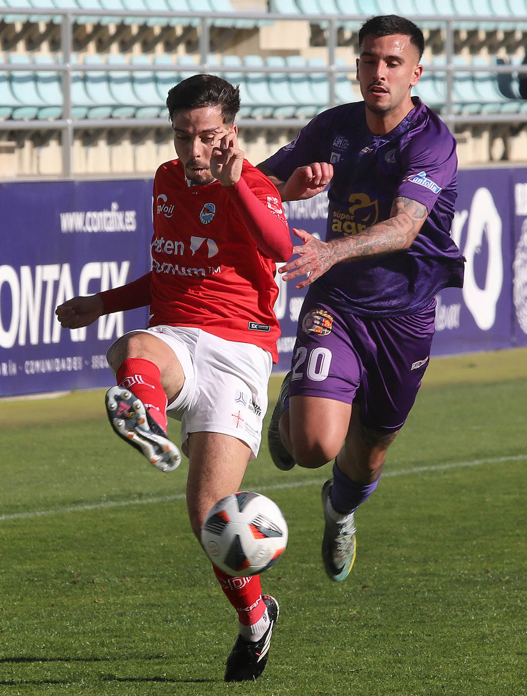
M395 432L414 405L428 365L435 306L434 299L415 314L371 319L337 314L308 293L289 395L358 404L363 425Z

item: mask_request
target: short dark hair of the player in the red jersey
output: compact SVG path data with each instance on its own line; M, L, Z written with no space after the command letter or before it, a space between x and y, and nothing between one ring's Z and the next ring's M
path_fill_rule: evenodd
M168 90L166 108L170 120L173 120L175 111L203 106L221 106L223 122L233 125L239 111L239 86L233 86L217 75L198 74Z

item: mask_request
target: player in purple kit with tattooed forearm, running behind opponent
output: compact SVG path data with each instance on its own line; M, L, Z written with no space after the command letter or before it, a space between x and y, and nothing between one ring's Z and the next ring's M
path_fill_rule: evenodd
M411 96L423 49L413 22L368 19L356 60L363 101L320 113L259 166L283 200L329 184L325 241L294 230L298 256L281 268L308 292L269 450L283 470L335 459L322 488L322 557L337 581L354 562L354 512L377 487L427 367L435 295L463 282L449 233L455 139Z

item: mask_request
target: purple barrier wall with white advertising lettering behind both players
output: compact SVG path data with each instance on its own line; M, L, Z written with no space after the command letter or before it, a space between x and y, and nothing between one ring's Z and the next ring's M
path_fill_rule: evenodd
M153 204L172 214L169 201ZM101 317L76 331L61 329L54 309L148 271L152 180L5 183L0 207L0 396L113 383L107 348L145 326L148 309ZM323 237L325 194L284 207L291 228ZM526 346L527 168L459 171L452 234L466 257L465 285L436 297L434 355ZM191 269L176 259L174 272ZM283 371L304 292L281 278L278 285L275 370Z

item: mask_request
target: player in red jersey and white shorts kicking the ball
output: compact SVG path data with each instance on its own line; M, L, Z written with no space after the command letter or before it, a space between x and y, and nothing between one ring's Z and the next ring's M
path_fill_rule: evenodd
M194 75L169 91L166 105L178 159L155 175L152 271L70 299L56 314L77 329L150 305L148 329L109 348L117 386L107 393L107 412L117 434L163 471L181 460L166 434L167 413L181 420L187 506L199 539L212 505L239 490L258 454L278 359L275 262L290 258L292 243L278 191L238 147L238 88ZM239 619L225 679L257 679L278 603L262 595L259 576L214 573Z

